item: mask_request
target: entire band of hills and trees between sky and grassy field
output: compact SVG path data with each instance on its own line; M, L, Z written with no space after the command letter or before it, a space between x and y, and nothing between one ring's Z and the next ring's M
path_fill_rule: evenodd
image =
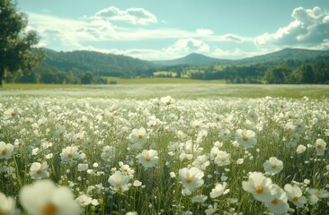
M45 59L31 73L5 82L106 83L104 76L135 78L169 73L176 78L226 80L232 83L329 83L329 51L286 48L240 60L191 54L167 61L93 51L43 49Z

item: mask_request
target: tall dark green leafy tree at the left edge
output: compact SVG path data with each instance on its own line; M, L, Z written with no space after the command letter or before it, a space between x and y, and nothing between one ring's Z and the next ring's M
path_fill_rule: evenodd
M28 73L43 58L36 31L26 31L27 16L16 11L12 0L0 0L0 85L4 75Z

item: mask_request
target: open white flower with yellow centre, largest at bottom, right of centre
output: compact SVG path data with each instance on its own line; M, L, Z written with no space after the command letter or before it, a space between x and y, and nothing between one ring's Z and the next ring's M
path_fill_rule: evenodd
M202 179L204 173L199 168L181 168L179 170L179 176L182 185L191 191L204 183Z

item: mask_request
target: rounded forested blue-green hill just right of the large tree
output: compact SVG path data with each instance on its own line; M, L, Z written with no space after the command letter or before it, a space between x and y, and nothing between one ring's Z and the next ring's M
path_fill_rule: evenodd
M43 66L73 73L90 72L101 76L120 76L127 73L143 73L156 64L130 56L103 54L93 51L56 52L44 49Z

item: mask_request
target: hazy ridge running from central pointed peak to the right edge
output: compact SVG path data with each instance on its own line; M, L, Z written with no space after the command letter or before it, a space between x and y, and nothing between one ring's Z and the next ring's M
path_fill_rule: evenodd
M299 48L285 48L277 52L272 52L270 54L247 57L239 60L218 59L218 58L192 53L189 56L184 56L178 59L153 61L153 63L162 64L162 65L262 64L262 63L274 64L288 60L298 60L304 62L307 60L312 60L318 56L329 57L329 50L319 51L319 50L307 50L307 49L299 49Z

